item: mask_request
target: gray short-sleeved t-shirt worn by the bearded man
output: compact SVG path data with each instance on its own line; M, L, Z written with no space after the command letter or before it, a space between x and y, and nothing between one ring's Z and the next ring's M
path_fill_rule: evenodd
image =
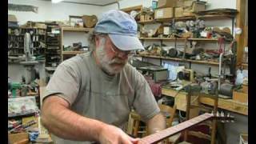
M120 74L105 74L94 60L92 52L80 54L62 62L46 86L46 94L70 102L74 112L123 128L130 110L141 115L143 121L160 112L145 78L133 66L126 64ZM55 138L57 143L71 142Z

